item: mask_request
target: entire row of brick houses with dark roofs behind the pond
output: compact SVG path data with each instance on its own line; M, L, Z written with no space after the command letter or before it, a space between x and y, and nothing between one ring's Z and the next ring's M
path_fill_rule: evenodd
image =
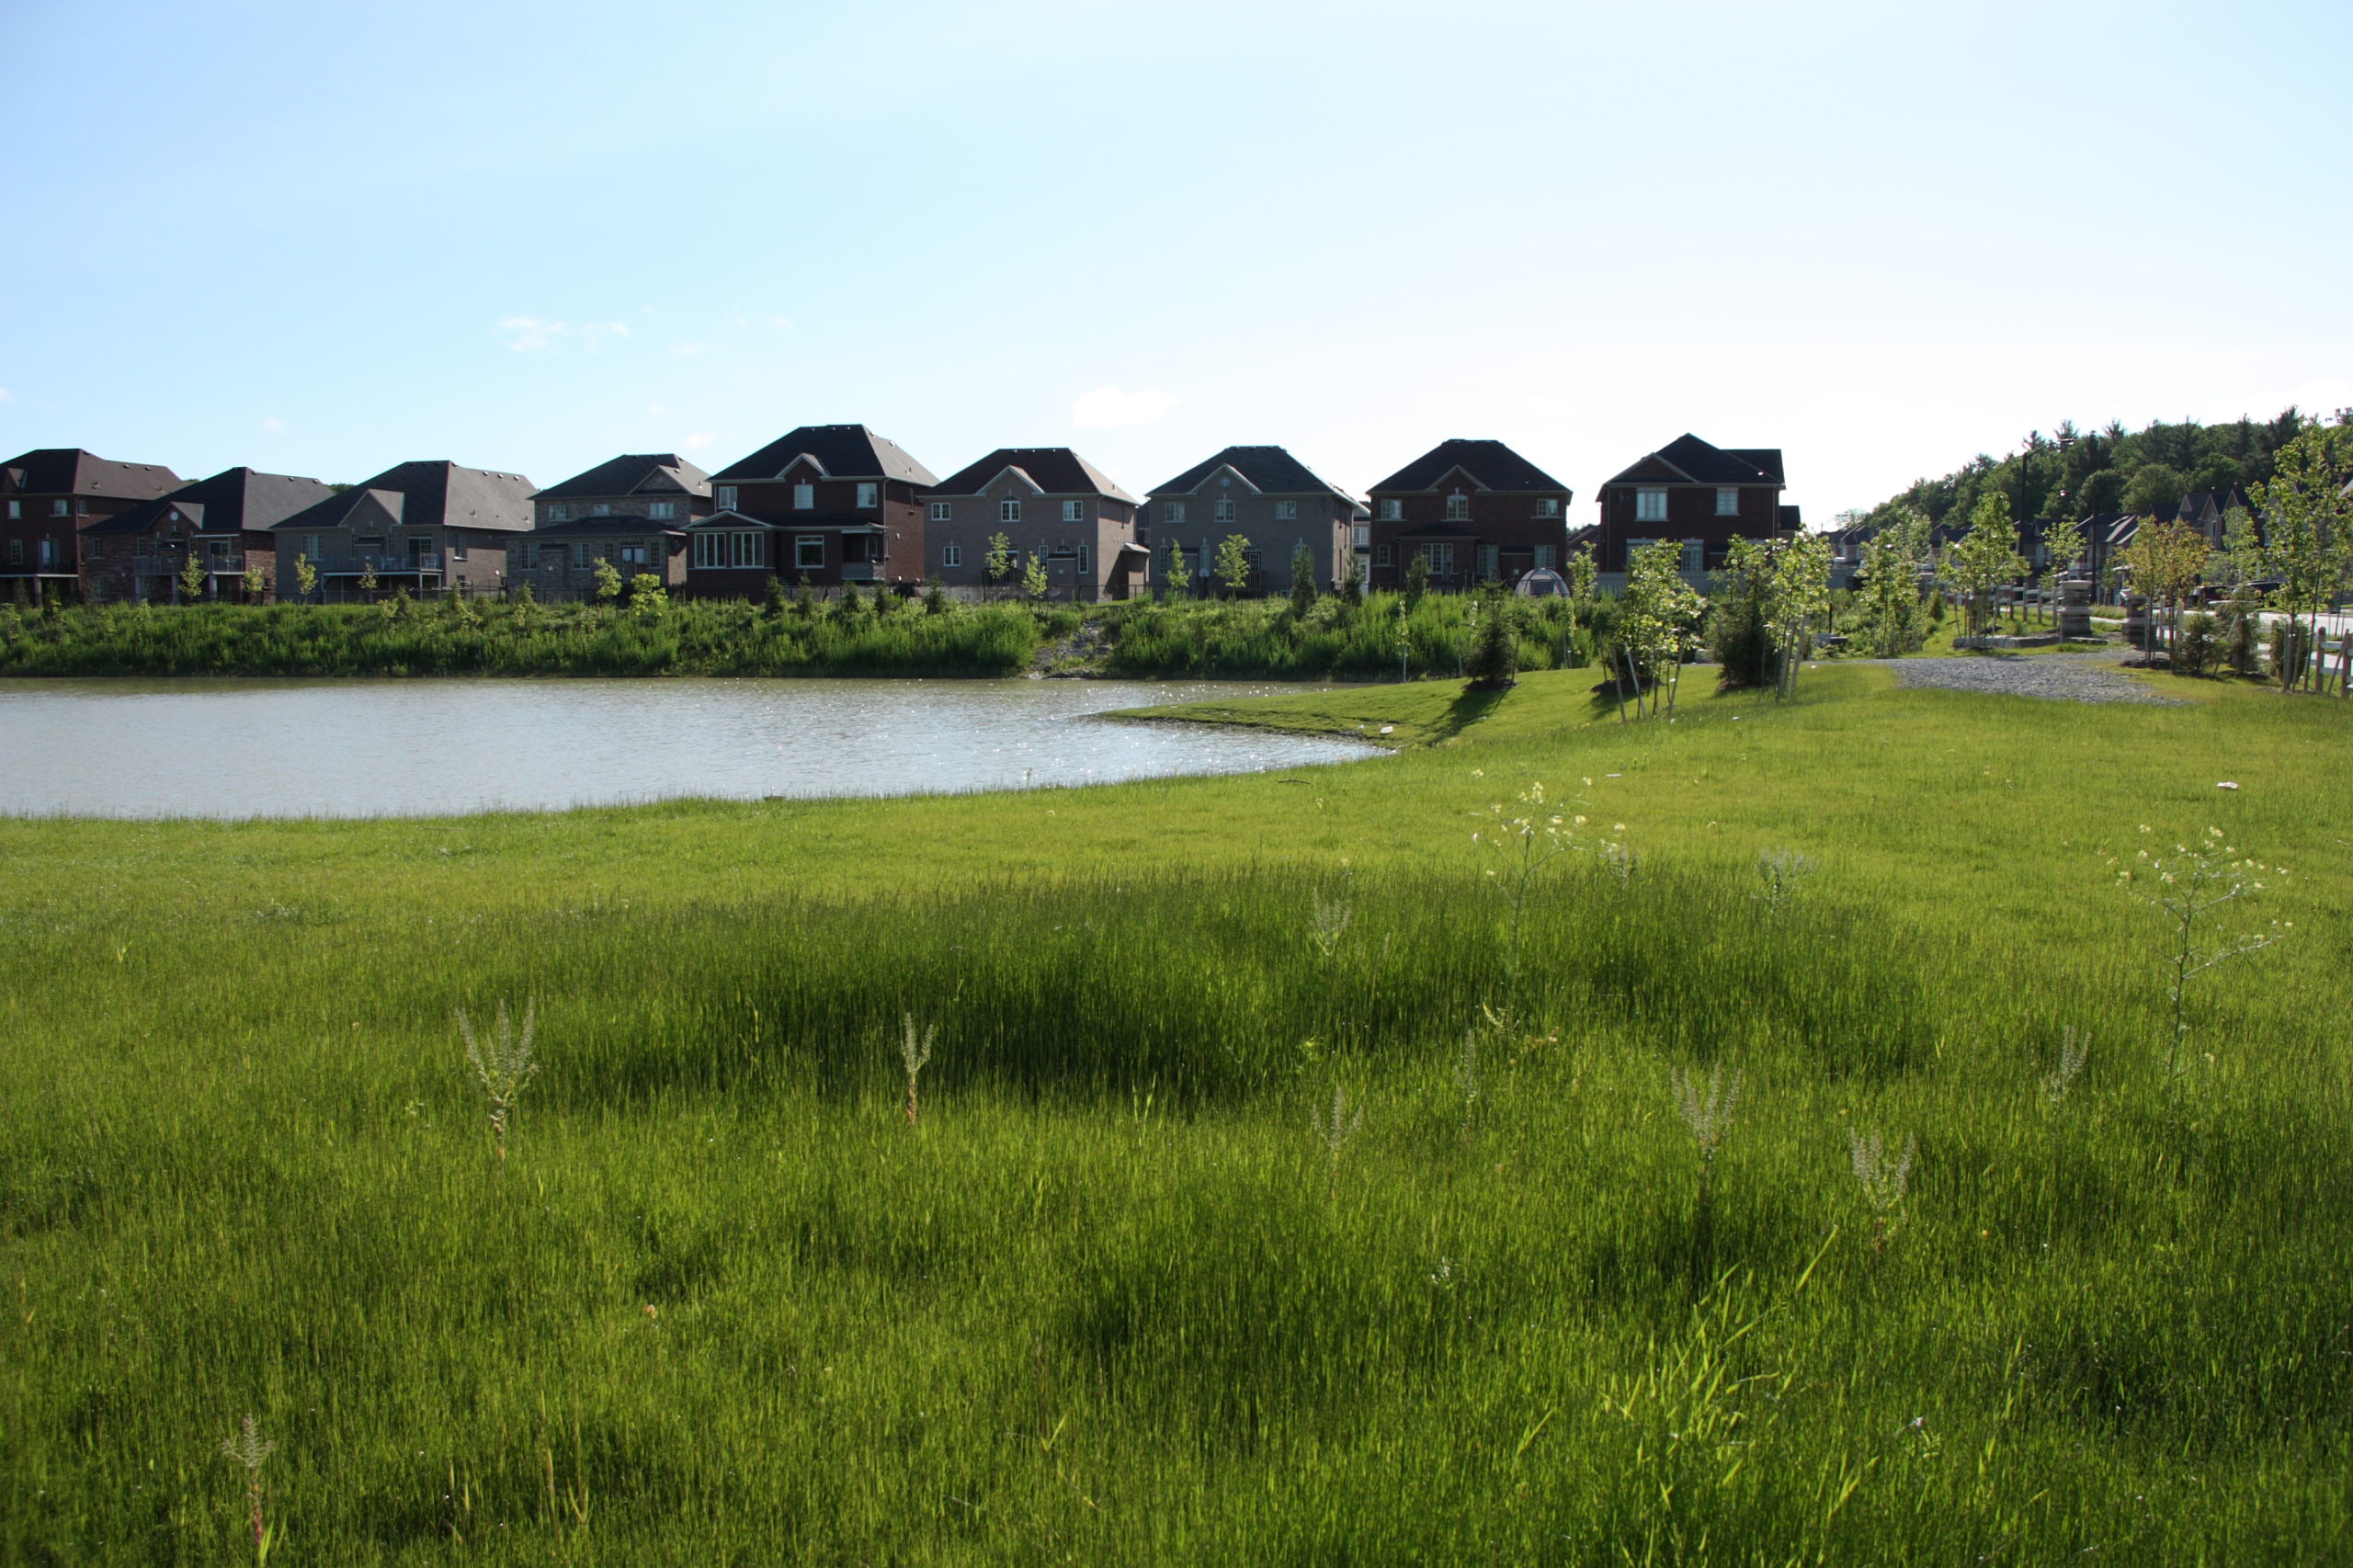
M1362 499L1285 447L1226 447L1144 497L1071 447L998 447L939 478L864 424L802 426L718 473L635 452L546 487L452 461L395 464L358 485L254 469L188 483L160 464L49 447L0 466L0 596L14 579L85 600L176 600L193 560L205 598L249 596L249 584L292 596L306 563L325 600L525 584L567 600L593 593L607 563L722 598L762 596L776 579L979 591L993 567L1035 565L1056 598L1099 600L1167 586L1172 546L1184 577L1209 577L1235 534L1259 591L1287 591L1294 560L1320 586L1351 570L1398 586L1417 558L1440 591L1515 584L1579 546L1609 579L1652 539L1680 539L1697 577L1734 537L1795 532L1781 492L1779 450L1697 436L1607 480L1598 523L1581 530L1569 487L1501 440L1442 440Z

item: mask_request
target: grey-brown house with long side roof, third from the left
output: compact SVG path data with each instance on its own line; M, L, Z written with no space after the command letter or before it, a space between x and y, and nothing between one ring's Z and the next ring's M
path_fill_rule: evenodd
M395 464L280 520L278 582L296 593L296 560L318 570L318 598L499 593L506 553L532 527L532 480L452 461Z

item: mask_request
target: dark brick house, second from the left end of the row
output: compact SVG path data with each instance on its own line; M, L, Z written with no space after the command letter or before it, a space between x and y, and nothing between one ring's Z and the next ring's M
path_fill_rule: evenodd
M261 572L264 598L278 584L278 534L271 532L334 490L292 473L224 469L172 494L99 518L82 530L82 593L92 600L165 600L188 596L181 570L205 567L202 598L245 598L245 570Z

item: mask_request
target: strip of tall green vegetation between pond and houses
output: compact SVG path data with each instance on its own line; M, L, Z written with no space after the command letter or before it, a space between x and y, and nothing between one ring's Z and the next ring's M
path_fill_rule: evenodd
M1407 617L1412 673L1454 676L1475 600ZM1513 603L1520 659L1558 664L1565 605ZM0 605L0 676L1009 676L1395 678L1398 598L1125 605L729 600L607 605Z

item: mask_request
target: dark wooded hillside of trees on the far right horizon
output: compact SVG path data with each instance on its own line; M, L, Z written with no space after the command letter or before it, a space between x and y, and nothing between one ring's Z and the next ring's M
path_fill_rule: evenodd
M2344 410L2337 419L2344 421ZM2151 424L2127 431L2028 431L2009 457L1979 452L1944 478L1922 478L1887 497L1868 513L1840 513L1840 523L1887 523L1913 509L1929 523L1967 523L1986 494L2009 499L2012 518L2092 518L2099 513L2148 516L2202 490L2233 492L2271 478L2273 452L2304 428L2306 414L2287 407L2278 419L2233 424Z

